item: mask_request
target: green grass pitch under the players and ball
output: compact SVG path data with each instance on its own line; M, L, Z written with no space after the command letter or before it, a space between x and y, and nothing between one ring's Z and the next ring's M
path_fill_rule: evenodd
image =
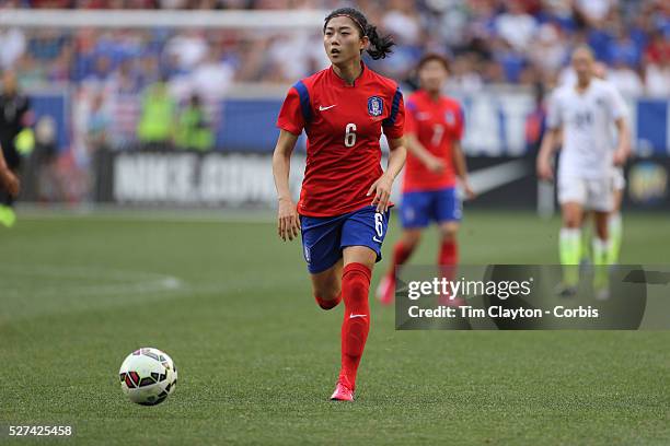
M300 244L264 215L24 212L0 231L0 425L69 424L101 445L670 444L663 331L401 332L372 302L358 400L328 401L342 308L314 304ZM622 262L668 263L669 221L625 214ZM469 212L462 261L556 262L558 225ZM436 239L413 261L431 263ZM120 392L139 347L180 369L161 406Z

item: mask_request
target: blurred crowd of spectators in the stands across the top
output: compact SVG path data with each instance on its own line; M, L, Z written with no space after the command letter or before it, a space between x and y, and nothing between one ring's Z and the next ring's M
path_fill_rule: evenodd
M333 0L9 0L4 8L333 9ZM663 0L360 0L391 33L376 69L408 79L426 51L452 61L454 86L553 84L570 49L589 44L626 95L670 94L670 2ZM317 28L0 30L0 66L24 86L77 83L132 94L166 80L177 97L219 97L232 82L290 83L327 64Z

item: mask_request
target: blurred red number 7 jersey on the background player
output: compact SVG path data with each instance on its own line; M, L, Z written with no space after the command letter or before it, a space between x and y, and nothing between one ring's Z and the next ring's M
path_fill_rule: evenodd
M413 133L424 148L444 162L440 174L428 169L409 151L405 164L403 191L437 190L455 186L452 159L453 141L463 137L463 110L461 105L447 96L434 101L419 90L407 98L406 133Z

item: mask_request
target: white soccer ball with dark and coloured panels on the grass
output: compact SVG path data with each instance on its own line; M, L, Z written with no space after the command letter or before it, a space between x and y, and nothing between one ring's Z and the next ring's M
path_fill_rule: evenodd
M176 367L168 353L145 348L126 357L118 371L122 390L130 401L155 406L165 401L176 386Z

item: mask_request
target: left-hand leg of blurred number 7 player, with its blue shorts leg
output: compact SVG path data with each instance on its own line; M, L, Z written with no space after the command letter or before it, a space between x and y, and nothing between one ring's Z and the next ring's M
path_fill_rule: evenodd
M401 208L401 223L403 233L393 246L393 257L389 263L386 273L377 287L377 298L382 304L391 304L395 294L396 269L409 259L412 253L418 246L423 230L428 225L430 206L430 192L405 192Z

